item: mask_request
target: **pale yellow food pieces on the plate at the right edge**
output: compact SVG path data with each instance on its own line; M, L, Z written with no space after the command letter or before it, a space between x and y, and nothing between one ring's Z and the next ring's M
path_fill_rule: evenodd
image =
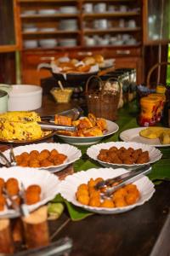
M163 127L148 127L139 131L141 137L156 139L159 138L161 144L170 144L170 129Z

